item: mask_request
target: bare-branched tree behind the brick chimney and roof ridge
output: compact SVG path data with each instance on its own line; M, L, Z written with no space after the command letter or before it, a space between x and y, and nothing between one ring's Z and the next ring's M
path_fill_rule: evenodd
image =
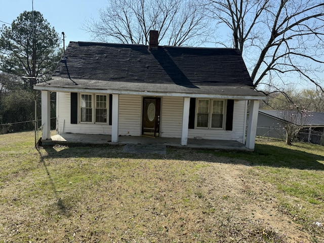
M154 29L161 45L198 46L211 32L205 7L194 0L108 0L97 20L85 22L84 30L101 42L147 45Z

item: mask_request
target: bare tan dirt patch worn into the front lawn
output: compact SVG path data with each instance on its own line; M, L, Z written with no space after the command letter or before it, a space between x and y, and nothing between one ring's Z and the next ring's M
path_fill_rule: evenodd
M252 175L249 177L249 170L244 165L211 163L200 171L201 190L209 203L228 214L232 222L261 224L286 236L287 242L308 242L310 235L278 211L276 189Z

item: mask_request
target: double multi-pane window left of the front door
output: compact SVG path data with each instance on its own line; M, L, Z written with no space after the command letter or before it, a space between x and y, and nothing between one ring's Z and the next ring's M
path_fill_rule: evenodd
M80 121L82 123L107 123L107 107L106 95L81 94Z

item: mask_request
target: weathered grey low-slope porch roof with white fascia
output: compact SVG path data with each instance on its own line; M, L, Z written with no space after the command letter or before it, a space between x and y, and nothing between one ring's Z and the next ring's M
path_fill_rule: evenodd
M176 84L146 84L109 82L102 80L68 79L54 77L49 82L34 86L36 90L52 92L85 92L133 94L147 96L206 97L242 100L263 100L265 96L247 86L196 86L189 88Z

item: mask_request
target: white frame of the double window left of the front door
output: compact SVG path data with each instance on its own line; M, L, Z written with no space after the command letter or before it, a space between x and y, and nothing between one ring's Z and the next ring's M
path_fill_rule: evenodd
M82 105L82 95L91 95L91 121L82 121L82 112L81 109L83 108ZM96 122L96 102L97 102L97 96L106 96L106 122L105 123L100 123ZM79 123L80 124L108 124L109 123L109 95L107 94L95 94L95 93L79 93L79 105L78 105L78 110L79 110Z

